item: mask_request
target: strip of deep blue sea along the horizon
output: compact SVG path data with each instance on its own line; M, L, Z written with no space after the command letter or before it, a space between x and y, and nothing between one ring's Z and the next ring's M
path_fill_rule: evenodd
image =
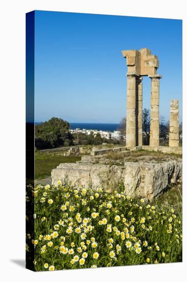
M35 122L35 125L39 125L40 122ZM69 123L71 129L97 129L102 131L115 131L118 130L119 124L93 124L93 123Z

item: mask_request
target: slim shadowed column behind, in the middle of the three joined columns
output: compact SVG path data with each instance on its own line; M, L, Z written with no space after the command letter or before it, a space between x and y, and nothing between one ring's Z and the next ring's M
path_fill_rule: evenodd
M143 136L142 136L142 93L143 93L143 77L140 76L137 79L138 82L138 146L143 145Z

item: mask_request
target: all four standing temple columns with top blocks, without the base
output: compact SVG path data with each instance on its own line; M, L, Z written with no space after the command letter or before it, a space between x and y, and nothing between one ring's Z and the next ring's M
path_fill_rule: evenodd
M126 146L136 147L143 145L142 132L142 101L143 101L143 76L151 78L151 125L150 146L159 146L159 80L157 74L159 67L158 57L151 54L147 48L122 51L127 58L127 122ZM171 102L170 114L170 142L169 147L178 147L179 122L178 100Z

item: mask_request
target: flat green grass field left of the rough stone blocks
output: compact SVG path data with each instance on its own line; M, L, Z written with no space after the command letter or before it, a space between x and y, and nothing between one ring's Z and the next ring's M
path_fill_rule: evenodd
M61 163L76 163L81 156L63 156L62 153L35 152L35 179L42 179L51 175L51 170Z

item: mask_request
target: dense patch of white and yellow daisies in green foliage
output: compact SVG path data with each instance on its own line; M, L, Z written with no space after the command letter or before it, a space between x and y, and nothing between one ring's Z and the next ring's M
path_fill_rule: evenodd
M28 188L34 202L36 271L172 263L181 260L181 213L124 192L71 185ZM27 216L29 220L29 216Z

